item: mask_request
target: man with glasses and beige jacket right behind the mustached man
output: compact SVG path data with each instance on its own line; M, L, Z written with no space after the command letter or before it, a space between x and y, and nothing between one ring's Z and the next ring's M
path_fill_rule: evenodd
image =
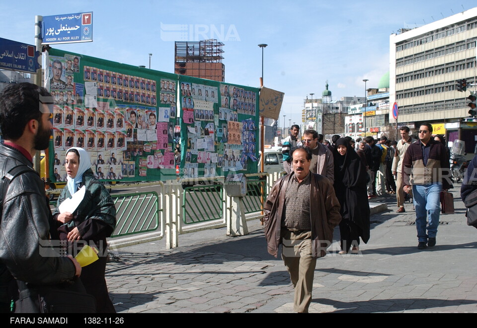
M330 182L333 183L333 154L331 154L327 147L318 142L318 132L315 130L305 130L305 132L303 132L303 146L309 148L312 152L310 171L327 177Z

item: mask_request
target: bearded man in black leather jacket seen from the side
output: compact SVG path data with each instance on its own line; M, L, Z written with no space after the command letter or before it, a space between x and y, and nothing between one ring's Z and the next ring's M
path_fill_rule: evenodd
M43 286L81 273L76 259L48 245L51 212L32 168L35 152L49 145L50 102L46 89L31 83L10 84L0 94L0 312L9 311L12 277Z

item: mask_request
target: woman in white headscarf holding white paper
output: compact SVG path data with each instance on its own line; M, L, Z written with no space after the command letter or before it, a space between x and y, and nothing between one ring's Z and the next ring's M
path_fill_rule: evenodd
M68 252L76 256L85 244L99 250L99 260L82 268L81 282L86 292L96 298L98 313L114 313L109 299L104 272L107 243L116 227L116 208L109 192L91 170L89 154L82 148L72 147L66 152L67 185L58 198L53 214L58 223L60 240L68 241ZM67 198L85 186L83 200L73 213L60 213L58 207Z

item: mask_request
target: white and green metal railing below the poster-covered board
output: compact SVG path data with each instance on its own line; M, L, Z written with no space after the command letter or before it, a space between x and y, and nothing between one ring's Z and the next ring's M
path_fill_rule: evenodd
M247 195L243 197L246 220L263 215L262 201L283 173L246 174ZM169 249L178 246L180 234L218 227L227 227L229 233L235 214L233 198L225 192L224 179L223 176L202 178L203 185L193 178L131 184L158 186L159 189L157 192L111 194L117 211L117 226L109 240L111 249L162 238ZM128 185L108 187L124 189ZM56 202L51 204L56 206Z

